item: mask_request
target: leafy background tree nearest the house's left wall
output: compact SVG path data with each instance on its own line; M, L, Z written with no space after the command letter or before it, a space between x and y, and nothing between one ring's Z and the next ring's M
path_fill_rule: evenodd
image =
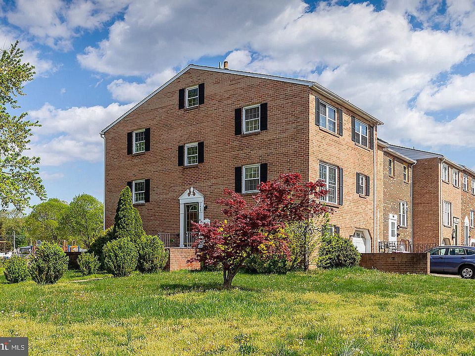
M102 230L103 208L102 203L92 195L77 195L61 218L59 228L89 249L96 233Z

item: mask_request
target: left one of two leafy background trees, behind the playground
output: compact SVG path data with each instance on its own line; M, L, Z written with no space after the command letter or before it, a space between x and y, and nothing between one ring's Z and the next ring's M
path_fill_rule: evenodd
M57 198L35 205L26 218L26 229L30 238L58 241L69 237L59 228L59 222L67 211L68 203Z

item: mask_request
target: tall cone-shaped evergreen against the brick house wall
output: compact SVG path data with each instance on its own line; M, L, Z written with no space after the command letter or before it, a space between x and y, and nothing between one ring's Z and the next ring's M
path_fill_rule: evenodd
M139 211L132 205L132 192L128 186L120 192L114 221L114 238L127 237L137 242L145 234Z

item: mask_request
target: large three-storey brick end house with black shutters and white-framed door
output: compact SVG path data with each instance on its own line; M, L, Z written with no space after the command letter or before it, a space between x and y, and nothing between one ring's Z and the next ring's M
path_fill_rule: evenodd
M192 222L223 218L224 188L250 201L259 182L298 172L326 182L335 232L377 251L381 124L311 81L189 65L101 132L104 224L128 184L145 231L189 247Z

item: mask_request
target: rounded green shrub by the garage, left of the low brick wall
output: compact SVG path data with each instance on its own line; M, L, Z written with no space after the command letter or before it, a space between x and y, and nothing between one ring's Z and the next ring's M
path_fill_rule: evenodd
M317 266L321 268L353 267L361 255L353 243L338 234L322 237Z

